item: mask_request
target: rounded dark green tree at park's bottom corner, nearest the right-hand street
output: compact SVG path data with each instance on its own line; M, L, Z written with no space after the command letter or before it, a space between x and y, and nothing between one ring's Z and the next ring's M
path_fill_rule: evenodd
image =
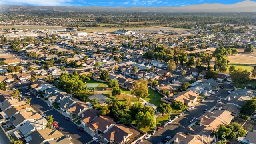
M137 126L138 128L153 128L156 126L156 122L154 120L154 116L150 114L150 112L139 112L136 114L136 121L137 121Z

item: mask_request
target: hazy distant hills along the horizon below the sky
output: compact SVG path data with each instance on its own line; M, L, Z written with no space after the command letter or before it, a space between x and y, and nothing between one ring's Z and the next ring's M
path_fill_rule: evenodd
M245 0L235 4L198 4L180 7L74 7L2 5L0 11L61 11L61 12L256 12L256 2Z

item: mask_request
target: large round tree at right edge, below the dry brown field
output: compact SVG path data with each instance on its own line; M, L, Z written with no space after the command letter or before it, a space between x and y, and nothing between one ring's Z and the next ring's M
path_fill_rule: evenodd
M230 74L230 77L234 83L243 83L250 80L250 72L238 68Z

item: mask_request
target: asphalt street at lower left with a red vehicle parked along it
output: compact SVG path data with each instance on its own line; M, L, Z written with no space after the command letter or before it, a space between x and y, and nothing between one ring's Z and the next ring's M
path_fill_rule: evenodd
M47 104L42 101L41 99L37 99L35 96L27 96L26 93L26 87L29 85L29 83L23 83L20 85L14 85L10 88L19 88L23 87L22 90L20 90L20 93L25 96L27 99L32 98L30 104L32 104L32 108L34 110L39 111L41 110L46 116L53 115L54 121L58 122L58 125L60 128L62 128L62 134L66 136L67 134L72 137L72 142L74 144L97 144L97 142L94 142L92 140L92 136L90 136L86 132L80 132L78 131L78 126L74 124L71 121L66 121L65 117L60 114L57 110L53 109L52 107L48 107Z

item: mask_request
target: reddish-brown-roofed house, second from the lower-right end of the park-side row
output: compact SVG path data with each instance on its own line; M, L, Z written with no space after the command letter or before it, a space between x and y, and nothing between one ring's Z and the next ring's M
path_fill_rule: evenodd
M98 130L102 133L108 132L116 122L114 122L113 118L110 118L109 116L99 116L94 120L94 122L91 122L88 124L89 130L92 132L97 132Z

